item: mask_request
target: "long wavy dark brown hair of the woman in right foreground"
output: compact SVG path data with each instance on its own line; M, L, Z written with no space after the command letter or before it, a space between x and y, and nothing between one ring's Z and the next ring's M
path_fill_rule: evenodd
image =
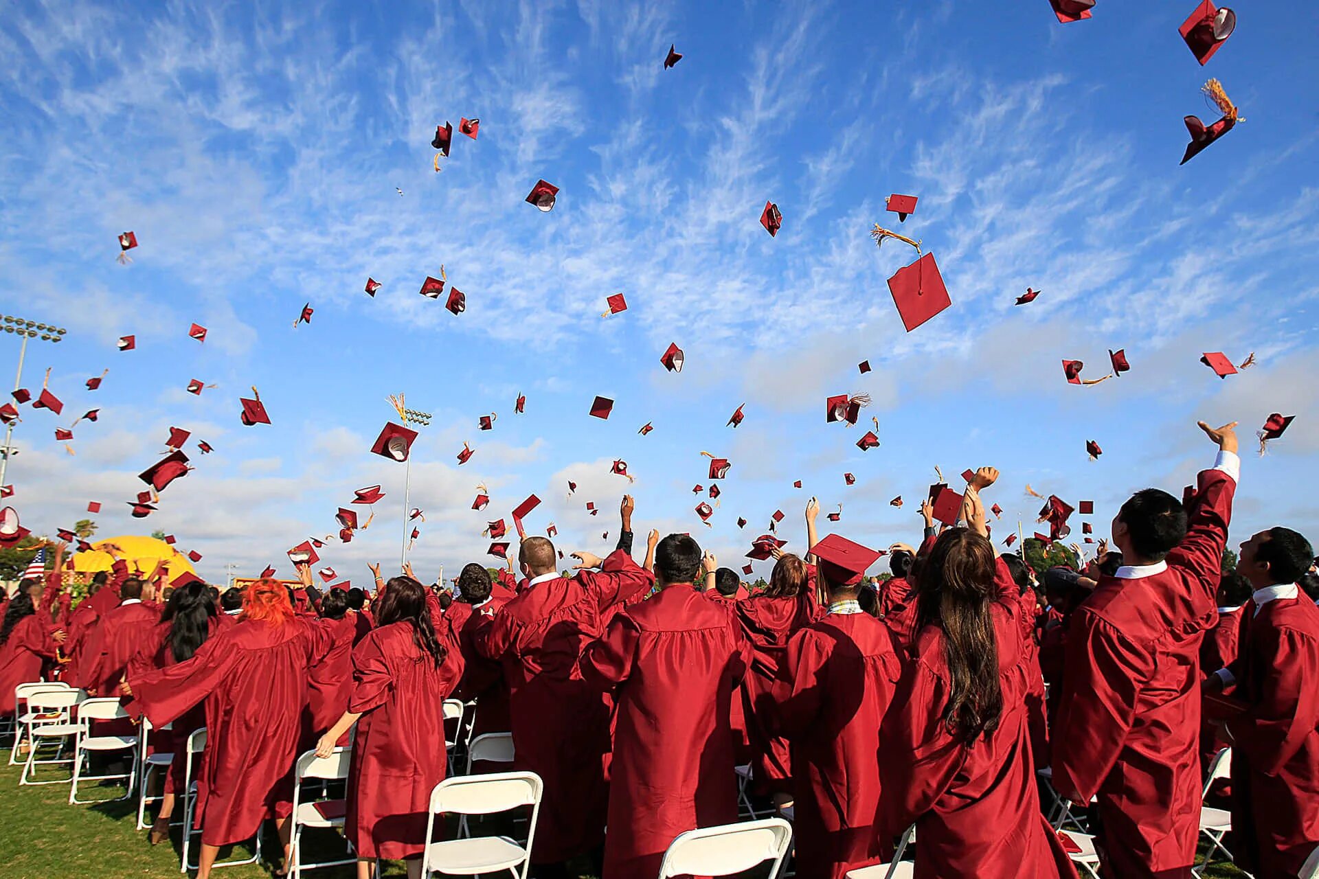
M989 608L995 598L995 552L968 531L944 531L919 565L917 618L943 630L943 658L952 691L943 722L969 745L998 727L998 639Z

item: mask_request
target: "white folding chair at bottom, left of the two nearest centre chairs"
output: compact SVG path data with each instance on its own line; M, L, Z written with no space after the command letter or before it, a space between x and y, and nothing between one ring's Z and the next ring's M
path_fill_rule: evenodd
M426 850L421 858L422 879L434 874L471 876L508 870L526 879L536 838L536 820L541 813L545 785L536 772L496 772L445 779L430 792L430 814L426 817ZM493 814L532 807L526 846L508 837L475 837L431 842L437 814Z

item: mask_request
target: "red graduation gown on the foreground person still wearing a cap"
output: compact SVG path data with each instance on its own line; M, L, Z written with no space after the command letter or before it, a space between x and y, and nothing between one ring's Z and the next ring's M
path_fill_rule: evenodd
M791 742L797 875L842 879L882 854L880 723L902 673L901 646L867 613L828 614L787 642L791 688L778 706ZM882 759L882 756L881 756Z

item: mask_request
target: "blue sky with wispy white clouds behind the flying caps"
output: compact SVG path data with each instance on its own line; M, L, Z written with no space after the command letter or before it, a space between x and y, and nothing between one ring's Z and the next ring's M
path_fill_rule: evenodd
M398 555L404 467L368 449L385 397L405 393L435 415L412 467L425 576L484 560L487 519L529 493L545 501L529 528L554 521L565 551L612 546L624 490L638 530L691 531L727 563L776 509L805 551L813 494L844 505L822 531L913 540L935 465L954 482L1002 470L997 536L1031 530L1026 484L1093 498L1101 535L1132 490L1179 492L1212 460L1200 418L1241 422L1233 542L1277 523L1316 538L1295 486L1319 474L1319 14L1239 4L1202 69L1177 33L1194 5L1104 0L1060 25L1045 0L16 4L0 34L0 311L69 337L29 348L24 383L51 366L67 409L24 409L12 502L53 532L102 501L102 535L174 532L220 580L226 564L289 575L284 550L335 531L335 509L380 482L371 528L323 553L360 581ZM685 57L663 70L670 42ZM1217 116L1208 76L1246 121L1179 167L1182 116ZM479 140L455 130L437 174L435 125L463 116ZM538 178L561 187L550 213L522 200ZM868 236L896 225L890 192L919 196L900 229L954 302L911 333L885 281L914 253ZM127 229L140 246L121 266ZM417 294L441 265L467 294L460 316ZM1043 295L1014 307L1028 285ZM612 293L629 308L601 320ZM116 351L124 333L137 351ZM11 369L17 343L0 341ZM681 374L658 361L671 341ZM1060 360L1097 377L1109 348L1130 373L1066 383ZM1258 365L1220 381L1206 351ZM191 378L218 386L194 397ZM272 426L239 423L252 385ZM859 391L873 403L856 428L824 423L827 395ZM616 401L607 422L587 415L596 394ZM725 427L740 403L747 420ZM54 427L94 406L69 456ZM1273 411L1297 422L1258 459ZM871 416L882 445L863 453ZM193 431L198 469L129 519L170 426ZM464 440L476 453L459 467ZM692 511L700 451L733 464L712 528ZM616 457L636 484L609 473ZM485 513L470 510L477 484Z

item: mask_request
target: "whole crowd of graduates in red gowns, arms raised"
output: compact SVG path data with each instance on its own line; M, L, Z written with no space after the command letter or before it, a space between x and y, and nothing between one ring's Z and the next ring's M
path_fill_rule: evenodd
M1190 876L1224 746L1233 858L1297 876L1319 846L1314 551L1273 527L1224 575L1233 427L1202 423L1219 455L1195 492L1133 494L1080 571L997 553L988 467L958 526L925 505L919 544L886 553L819 538L813 501L810 551L774 550L754 593L690 535L652 531L634 561L630 497L617 547L572 553L574 576L524 536L521 576L468 564L454 589L377 567L369 593L321 593L302 564L302 588L191 579L166 596L117 561L74 606L57 547L45 582L0 604L0 716L45 676L171 723L153 843L204 726L203 879L266 818L288 843L294 760L344 745L359 875L377 858L419 875L446 698L475 702L475 734L510 731L514 767L543 780L537 878L583 859L658 875L678 834L737 821L740 775L748 805L791 814L803 879L881 863L913 825L917 876L1075 876L1042 791L1088 807L1104 876ZM892 577L867 576L884 555Z

